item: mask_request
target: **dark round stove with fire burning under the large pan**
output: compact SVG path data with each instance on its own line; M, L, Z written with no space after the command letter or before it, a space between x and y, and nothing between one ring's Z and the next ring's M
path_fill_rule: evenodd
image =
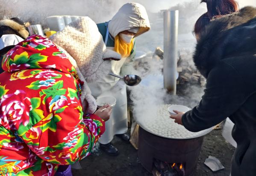
M138 142L141 165L153 175L189 176L197 166L203 136L186 140L167 139L140 127Z

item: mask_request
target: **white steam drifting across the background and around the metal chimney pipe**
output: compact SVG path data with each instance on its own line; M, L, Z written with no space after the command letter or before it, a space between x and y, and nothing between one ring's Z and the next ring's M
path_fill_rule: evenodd
M141 67L134 70L134 74L138 74L142 78L147 77L147 75L157 77L162 74L163 62L152 58L152 53L157 46L163 48L163 19L161 14L155 12L161 8L168 9L170 6L172 6L172 10L179 10L178 48L188 51L185 60L188 65L193 65L192 53L195 39L191 31L197 18L206 12L205 4L199 5L200 0L0 0L0 20L20 17L31 24L47 26L45 25L45 18L48 16L78 15L88 16L96 23L101 23L110 20L116 11L128 2L141 3L146 7L152 27L149 32L143 34L143 37L137 38L137 50L147 52L148 57L141 62ZM179 4L174 6L174 3ZM238 0L238 3L240 7L256 6L255 0ZM183 91L186 94L185 97L170 96L164 90L159 89L157 79L152 79L150 86L146 88L138 85L132 87L130 91L134 115L146 118L154 117L157 105L160 104L183 104L192 108L203 94L203 88L191 85ZM191 101L191 99L193 100Z

